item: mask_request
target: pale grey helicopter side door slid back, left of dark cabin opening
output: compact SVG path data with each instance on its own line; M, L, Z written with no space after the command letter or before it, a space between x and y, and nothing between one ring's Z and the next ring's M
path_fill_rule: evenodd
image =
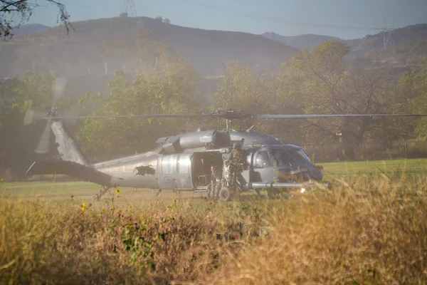
M172 190L191 190L190 155L163 155L160 169L160 187Z

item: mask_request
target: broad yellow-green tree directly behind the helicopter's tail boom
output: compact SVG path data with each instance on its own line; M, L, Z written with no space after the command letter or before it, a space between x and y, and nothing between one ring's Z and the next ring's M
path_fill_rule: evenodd
M196 113L200 91L195 76L188 62L164 54L156 68L147 68L131 80L123 71L116 71L107 94L86 94L80 104L90 115ZM88 119L77 137L90 155L129 155L150 150L159 136L177 135L189 122L176 118Z

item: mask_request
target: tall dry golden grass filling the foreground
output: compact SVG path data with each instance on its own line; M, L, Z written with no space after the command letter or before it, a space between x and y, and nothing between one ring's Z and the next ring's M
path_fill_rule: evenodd
M4 284L425 284L424 175L283 201L0 203Z

